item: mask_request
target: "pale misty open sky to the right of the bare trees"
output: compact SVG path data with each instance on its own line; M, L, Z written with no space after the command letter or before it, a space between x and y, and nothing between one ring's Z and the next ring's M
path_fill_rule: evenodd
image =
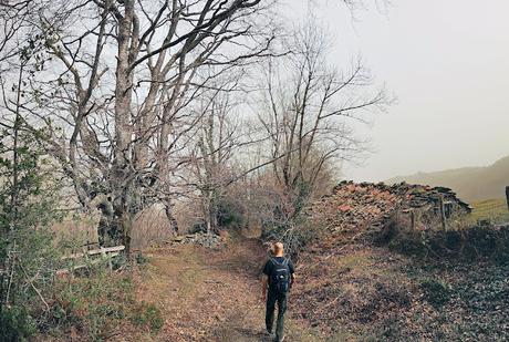
M342 68L361 54L398 100L362 129L374 153L345 177L383 180L509 155L509 1L391 1L354 21L340 0L313 1L334 34L330 61ZM310 7L287 3L291 17Z

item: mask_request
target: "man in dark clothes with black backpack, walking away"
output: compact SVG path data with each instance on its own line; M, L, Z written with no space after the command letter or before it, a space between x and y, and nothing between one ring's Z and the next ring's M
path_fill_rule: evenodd
M284 312L287 311L288 292L294 281L293 265L290 259L284 257L283 243L277 242L273 245L273 256L263 267L262 278L262 299L267 303L266 328L269 335L272 335L276 302L278 302L278 322L274 340L277 342L284 340Z

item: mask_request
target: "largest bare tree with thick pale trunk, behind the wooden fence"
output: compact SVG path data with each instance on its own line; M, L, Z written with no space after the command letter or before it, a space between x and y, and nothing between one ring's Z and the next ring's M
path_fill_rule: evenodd
M42 1L31 1L41 4ZM272 1L52 1L31 22L27 123L90 208L107 194L128 248L132 220L159 201L172 216L176 170L204 113L189 110L219 75L269 55ZM35 49L34 46L41 46ZM215 73L210 73L214 66Z

